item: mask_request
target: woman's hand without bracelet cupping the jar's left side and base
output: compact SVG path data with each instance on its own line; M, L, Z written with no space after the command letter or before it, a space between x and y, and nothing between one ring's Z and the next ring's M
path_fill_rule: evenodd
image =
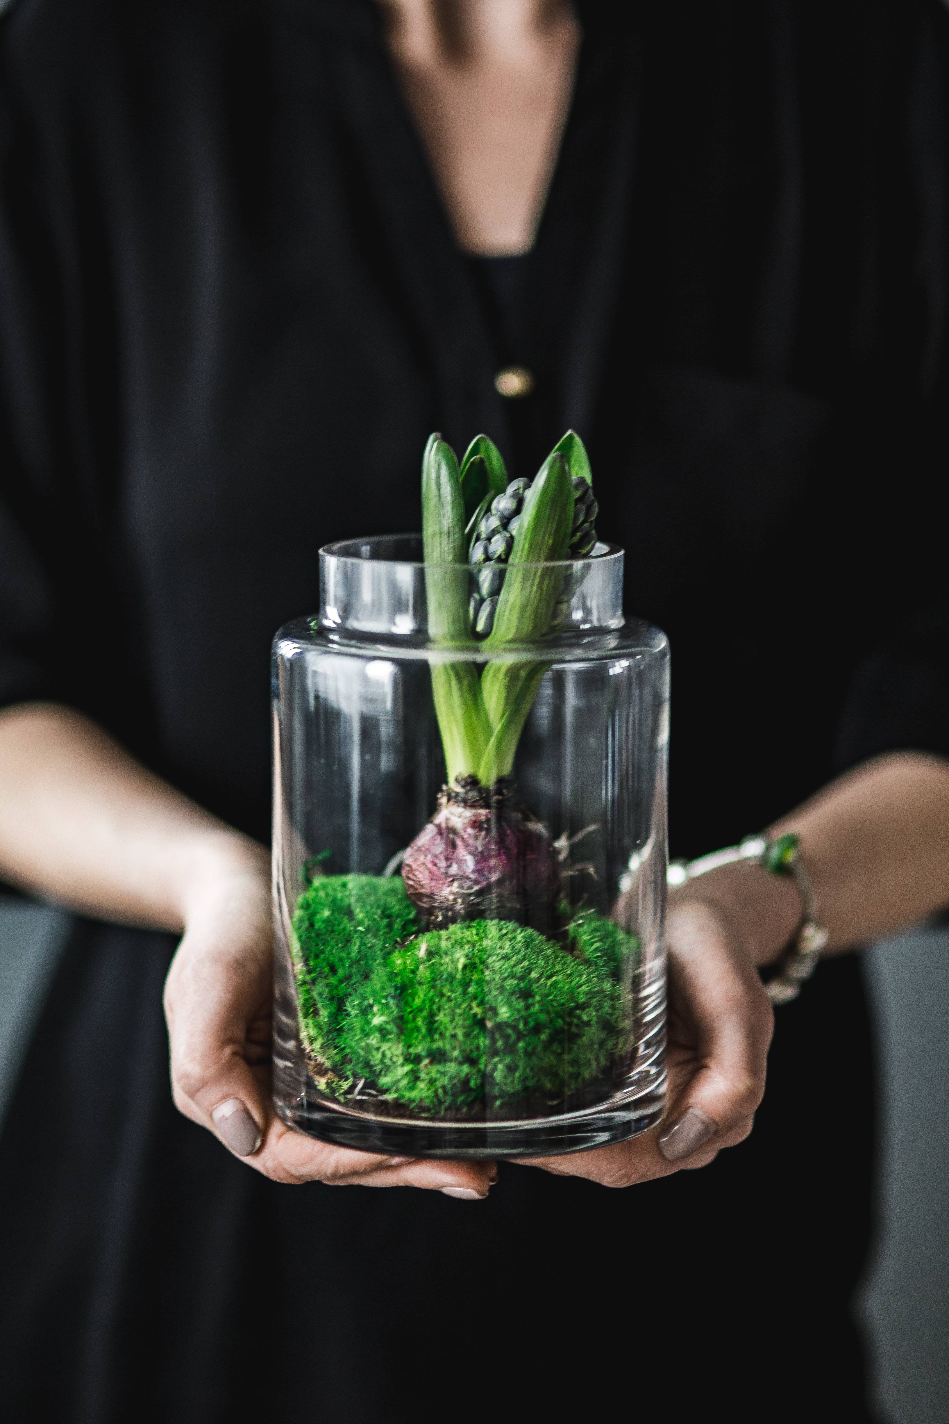
M215 852L221 859L219 850ZM236 842L198 881L165 985L175 1105L275 1182L418 1186L481 1199L494 1162L356 1152L286 1126L270 1096L270 870L262 847Z

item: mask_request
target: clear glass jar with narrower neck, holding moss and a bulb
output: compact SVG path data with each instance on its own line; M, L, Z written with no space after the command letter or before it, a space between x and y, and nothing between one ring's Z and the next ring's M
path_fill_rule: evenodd
M431 639L413 535L324 548L319 618L276 635L273 1082L297 1131L518 1156L659 1121L669 644L598 550L556 565L569 617L531 645ZM433 686L491 662L524 689L514 765L450 793Z

